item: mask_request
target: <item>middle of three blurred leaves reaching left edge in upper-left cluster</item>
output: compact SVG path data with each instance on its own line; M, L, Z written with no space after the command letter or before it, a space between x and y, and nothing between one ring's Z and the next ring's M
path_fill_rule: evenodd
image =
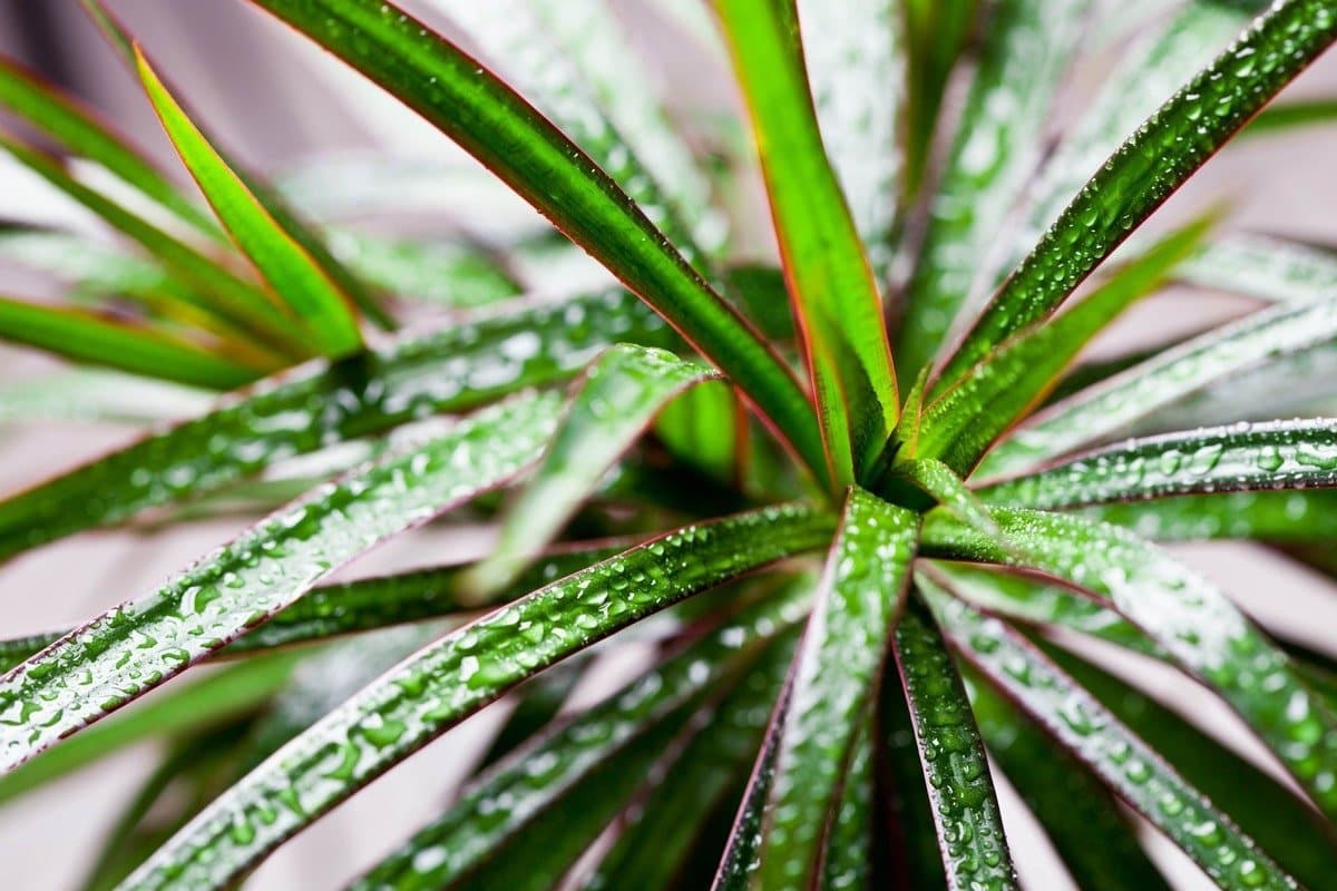
M217 315L230 329L254 331L270 346L290 355L310 355L309 345L302 342L301 331L293 319L257 286L235 277L186 242L88 188L51 158L3 135L0 135L0 150L138 243L182 282L198 289L199 294L193 302L197 309ZM194 290L183 291L182 297L194 293Z

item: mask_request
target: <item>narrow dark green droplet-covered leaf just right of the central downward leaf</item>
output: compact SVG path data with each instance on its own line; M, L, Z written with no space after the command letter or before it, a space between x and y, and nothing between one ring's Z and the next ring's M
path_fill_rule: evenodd
M896 627L892 652L919 741L947 887L1017 888L965 687L932 616L917 598L910 598Z

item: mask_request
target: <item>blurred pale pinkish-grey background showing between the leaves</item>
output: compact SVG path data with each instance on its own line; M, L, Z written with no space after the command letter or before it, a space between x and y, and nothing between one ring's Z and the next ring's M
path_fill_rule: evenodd
M679 5L693 3L685 0ZM364 171L376 171L386 159L422 162L440 166L447 179L449 171L472 163L435 130L241 0L112 0L108 5L230 151L254 170L293 184L294 194L324 203L326 210L338 212L342 198L368 184L349 172L357 170L349 159L365 162ZM421 4L405 5L433 19ZM719 116L737 119L727 68L714 53L709 35L698 31L701 23L710 24L703 9L667 16L664 4L652 0L616 0L612 5L624 17L635 47L651 60L652 81L646 84L647 90L659 91L683 126L690 128L694 122ZM1103 41L1102 35L1092 35L1094 52L1071 79L1064 110L1082 107L1110 63L1118 59L1120 45L1118 40ZM83 98L166 170L179 171L136 84L76 0L0 0L0 52ZM1337 56L1321 60L1286 92L1286 96L1300 95L1337 95ZM1064 110L1055 120L1055 132L1066 119ZM1231 227L1337 244L1334 158L1337 130L1306 128L1269 140L1245 140L1214 159L1190 188L1158 214L1155 224L1182 220L1209 202L1229 200L1234 211ZM341 163L332 164L333 159ZM361 222L372 227L408 226L431 236L461 226L485 232L489 222L529 215L499 190L447 186L452 184L443 180L440 191L424 191L421 180L414 180L413 188L396 198L402 212L372 215ZM755 178L742 176L738 200L757 203L759 212L753 216L763 222L765 210L757 196ZM8 159L0 160L0 220L68 226L95 236L100 230L87 212ZM773 250L763 226L742 232L741 242L757 255ZM57 293L51 290L56 289L52 282L3 266L0 262L0 282L5 287L21 285L25 297L41 297L43 289ZM571 274L591 275L591 271L575 269ZM1195 327L1207 315L1227 318L1246 306L1201 293L1155 298L1130 314L1098 349L1112 349L1120 338L1146 337L1148 330L1161 338L1177 326ZM32 351L0 347L0 383L5 386L21 385L51 367L51 361ZM134 435L134 426L7 423L0 427L0 492L71 468ZM142 593L225 541L243 522L241 517L225 517L164 529L90 533L25 554L0 572L0 635L68 625ZM392 542L345 574L444 562L484 550L488 536L487 529L432 528ZM1320 649L1333 652L1337 647L1333 635L1337 598L1316 576L1261 548L1214 544L1179 550L1261 618L1292 629L1297 640ZM607 659L635 656L619 652ZM1191 688L1167 675L1158 689L1199 723L1222 729L1242 751L1257 755L1233 716L1223 709L1203 708L1203 699L1195 699ZM440 811L453 784L469 768L477 740L500 717L501 712L492 708L448 733L405 768L393 771L282 848L246 887L265 891L338 887ZM94 769L0 804L0 887L23 891L80 887L102 834L155 759L151 747L128 749ZM1043 844L1028 830L1021 808L1012 800L1007 807L1019 827L1017 844ZM1171 863L1178 856L1163 848L1158 851ZM1191 867L1177 868L1183 876L1182 887L1210 887ZM1064 876L1043 867L1032 868L1023 879L1036 891L1070 887Z

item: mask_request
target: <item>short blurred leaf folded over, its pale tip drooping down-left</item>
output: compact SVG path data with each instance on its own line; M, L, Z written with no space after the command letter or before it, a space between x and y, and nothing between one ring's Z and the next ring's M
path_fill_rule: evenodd
M508 584L543 552L674 395L715 377L663 350L618 345L586 371L539 465L503 518L473 581Z

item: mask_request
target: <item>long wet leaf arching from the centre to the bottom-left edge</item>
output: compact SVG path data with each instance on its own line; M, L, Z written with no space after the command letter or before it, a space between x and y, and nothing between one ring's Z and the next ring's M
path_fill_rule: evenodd
M453 632L266 760L126 887L226 887L294 832L527 677L685 597L818 548L830 533L828 514L797 506L687 526Z

